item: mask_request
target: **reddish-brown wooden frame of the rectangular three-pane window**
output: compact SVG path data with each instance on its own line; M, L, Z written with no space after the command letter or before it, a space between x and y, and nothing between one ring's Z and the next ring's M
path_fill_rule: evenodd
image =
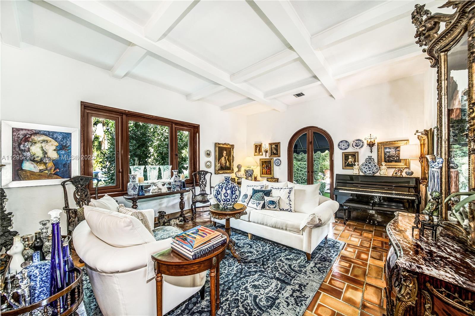
M199 124L167 119L150 114L127 111L109 106L81 101L81 157L92 156L92 117L116 120L115 124L115 149L116 149L116 183L115 186L99 187L99 194L111 196L124 195L129 182L129 121L138 121L149 124L158 124L169 127L169 161L172 170L178 169L177 130L190 132L190 178L186 179L187 185L192 182L191 174L199 170ZM92 159L81 159L81 175L93 176ZM92 184L91 192L94 191Z

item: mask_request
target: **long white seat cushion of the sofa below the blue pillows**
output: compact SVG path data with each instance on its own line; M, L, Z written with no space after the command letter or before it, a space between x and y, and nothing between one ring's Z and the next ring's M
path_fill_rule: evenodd
M252 223L273 227L281 231L293 232L299 235L303 232L300 228L300 224L308 217L308 214L305 213L291 213L265 209L253 209L250 213L249 221Z

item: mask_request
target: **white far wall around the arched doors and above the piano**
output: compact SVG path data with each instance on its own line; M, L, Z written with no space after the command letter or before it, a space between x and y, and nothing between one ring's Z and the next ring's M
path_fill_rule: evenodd
M342 150L338 142L342 139L350 143L353 139L377 136L377 141L409 139L410 144L418 144L416 130L427 128L424 120L424 77L422 74L377 84L347 92L345 97L334 100L324 97L291 106L287 112L266 112L247 117L247 155L253 156L253 144L281 143L280 167L275 168L279 181L287 179L287 146L292 135L306 126L317 126L326 130L334 143L334 173L351 174L352 170L342 169ZM345 151L354 151L351 147ZM372 156L377 160L377 146ZM360 164L370 155L369 147L359 150ZM420 176L417 159L411 163L415 176ZM392 174L394 169L388 169ZM257 173L259 172L257 168Z

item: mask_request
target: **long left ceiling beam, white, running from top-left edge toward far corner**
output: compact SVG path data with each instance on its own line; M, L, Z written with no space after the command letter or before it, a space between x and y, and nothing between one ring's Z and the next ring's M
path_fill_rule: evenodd
M261 104L270 106L277 111L285 111L287 105L278 100L267 100L264 93L248 84L235 84L231 82L229 74L210 65L197 56L181 49L178 46L162 39L158 42L143 36L143 28L138 27L133 22L125 19L113 10L106 8L97 1L61 1L47 0L46 2L65 10L78 18L84 19L100 28L122 37L137 46L157 54L172 63L180 65L190 71L199 74L211 81L221 84L226 88L244 95L247 98L256 100Z

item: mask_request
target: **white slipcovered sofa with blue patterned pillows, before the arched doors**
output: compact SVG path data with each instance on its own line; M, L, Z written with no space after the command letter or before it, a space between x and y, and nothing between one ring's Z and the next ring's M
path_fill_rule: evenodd
M334 213L338 210L338 202L319 195L319 184L302 186L292 182L271 183L243 179L241 195L247 191L247 186L261 184L265 188L293 186L295 211L257 210L248 204L247 215L240 219L231 218L231 227L249 233L249 238L251 235L257 235L302 250L306 253L307 260L311 260L312 251L327 238L331 225L335 222ZM225 220L213 221L225 224Z

